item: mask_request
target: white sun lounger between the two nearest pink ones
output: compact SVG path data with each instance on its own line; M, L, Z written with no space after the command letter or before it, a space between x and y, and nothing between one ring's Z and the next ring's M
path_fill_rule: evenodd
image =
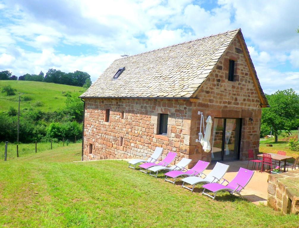
M220 179L225 175L229 168L229 165L222 164L220 162L217 162L212 171L208 174L205 175L204 173L201 173L199 177L191 176L191 177L185 177L181 181L183 181L182 187L191 190L193 192L194 187L196 184L199 183L216 183L220 181ZM204 178L201 177L201 175L205 175ZM188 183L193 186L192 189L188 188L187 186L184 186L184 183Z

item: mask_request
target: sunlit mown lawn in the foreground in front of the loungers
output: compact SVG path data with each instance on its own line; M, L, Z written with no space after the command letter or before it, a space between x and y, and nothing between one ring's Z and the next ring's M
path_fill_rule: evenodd
M298 227L299 216L216 201L128 169L80 160L81 146L0 161L0 227ZM197 189L200 191L201 189Z

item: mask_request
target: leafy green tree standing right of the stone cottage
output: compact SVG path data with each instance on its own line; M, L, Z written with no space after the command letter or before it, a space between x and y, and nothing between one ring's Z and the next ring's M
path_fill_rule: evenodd
M272 133L277 137L281 130L290 132L295 127L299 113L299 95L293 89L278 90L272 95L266 95L269 108L263 108L262 125L272 127Z

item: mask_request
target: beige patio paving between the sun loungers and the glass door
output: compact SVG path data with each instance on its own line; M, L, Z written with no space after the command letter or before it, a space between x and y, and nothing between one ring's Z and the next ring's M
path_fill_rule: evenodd
M229 165L228 172L224 175L224 178L228 181L231 181L235 177L235 175L237 175L237 172L239 171L240 167L246 169L248 161L231 161L222 163ZM215 163L210 164L208 168L204 171L204 173L208 174L213 169L214 165ZM252 163L250 162L248 169L251 169L251 167ZM256 170L256 167L255 169L251 170ZM250 182L241 192L244 198L255 204L263 203L264 205L267 205L268 176L269 173L267 172L254 172L254 175L251 178Z

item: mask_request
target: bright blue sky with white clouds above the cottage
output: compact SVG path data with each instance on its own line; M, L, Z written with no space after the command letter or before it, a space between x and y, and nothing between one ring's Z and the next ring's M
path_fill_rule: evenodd
M299 93L299 1L0 0L0 71L86 71L241 28L265 93Z

